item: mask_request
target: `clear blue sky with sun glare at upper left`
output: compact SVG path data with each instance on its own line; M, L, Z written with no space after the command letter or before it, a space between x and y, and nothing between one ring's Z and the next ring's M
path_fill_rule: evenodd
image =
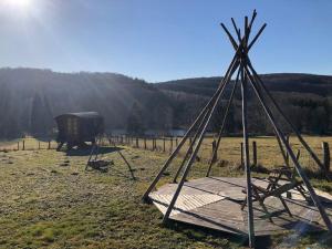
M331 0L0 0L0 66L221 75L234 51L219 23L253 9L255 30L268 23L251 50L258 72L332 74Z

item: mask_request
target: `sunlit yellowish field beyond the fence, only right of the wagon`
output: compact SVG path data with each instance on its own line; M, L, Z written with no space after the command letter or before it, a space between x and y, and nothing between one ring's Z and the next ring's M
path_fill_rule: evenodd
M323 149L322 149L322 142L328 142L332 145L332 137L331 136L304 136L307 143L311 146L311 148L315 152L318 157L323 160ZM120 141L121 138L114 138L114 141ZM148 138L132 138L127 142L125 138L122 139L123 143L118 144L129 144L134 147L138 147L139 149L145 149L145 141L146 141L146 148L149 151L154 151L154 142L153 139ZM173 142L172 142L173 141ZM170 152L175 148L175 146L179 143L180 137L178 138L157 138L155 142L155 151L170 154ZM198 153L198 157L208 162L212 155L212 141L214 138L208 137L205 138L201 145L201 148ZM280 153L280 148L278 146L278 142L276 137L271 136L258 136L255 138L249 139L250 144L250 160L252 163L252 142L257 144L257 160L258 164L267 167L272 168L277 165L284 165L283 157ZM138 142L138 144L137 144ZM239 165L241 163L241 137L225 137L221 138L221 143L218 149L218 159L219 162L222 160L222 164L226 165ZM164 146L165 143L165 146ZM310 157L308 152L304 147L300 144L295 136L290 137L290 145L294 149L297 154L298 149L300 149L300 163L303 167L311 169L313 172L319 170L319 167L315 165L314 160ZM180 151L180 155L184 156L187 148L189 146L189 139L184 145L183 149ZM165 149L164 149L165 147Z

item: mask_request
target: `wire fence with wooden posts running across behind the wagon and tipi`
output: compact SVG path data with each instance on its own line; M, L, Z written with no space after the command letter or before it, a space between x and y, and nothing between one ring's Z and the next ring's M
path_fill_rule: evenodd
M170 154L180 143L183 137L179 136L103 136L101 137L102 146L129 146L136 149L151 151L163 154ZM325 141L332 143L332 137L325 137ZM185 156L193 138L189 137L179 151L179 156ZM216 162L219 164L243 164L241 137L225 137L221 139L217 151ZM309 137L309 145L322 160L324 167L330 169L330 148L329 143L323 142L320 137ZM215 137L209 136L204 139L197 155L199 160L209 162L212 157ZM312 170L319 169L310 154L301 146L294 137L290 138L290 145L294 152L299 152L299 163ZM58 143L52 138L37 139L25 137L18 141L0 142L0 152L11 151L39 151L39 149L56 149ZM263 165L264 167L273 167L283 165L283 157L280 153L277 139L274 137L255 137L250 139L250 163L251 165Z

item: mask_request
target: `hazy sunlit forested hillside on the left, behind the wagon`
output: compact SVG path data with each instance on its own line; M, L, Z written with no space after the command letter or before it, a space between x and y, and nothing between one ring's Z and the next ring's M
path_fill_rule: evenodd
M53 117L65 112L97 111L108 132L126 128L133 115L146 128L173 125L173 97L153 84L121 74L1 69L0 89L2 138L22 133L48 136L55 127Z

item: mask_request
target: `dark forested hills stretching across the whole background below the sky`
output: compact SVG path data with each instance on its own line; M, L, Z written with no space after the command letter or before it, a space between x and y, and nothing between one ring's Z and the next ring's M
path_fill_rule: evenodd
M293 123L305 133L329 133L332 114L332 76L309 74L262 75ZM167 131L187 127L218 86L220 79L186 79L146 83L114 73L56 73L37 69L0 69L0 138L23 133L48 136L53 117L65 112L97 111L106 129ZM251 98L251 131L268 133L266 118ZM228 131L240 126L239 94ZM224 104L217 112L222 112ZM218 127L214 120L211 129Z

